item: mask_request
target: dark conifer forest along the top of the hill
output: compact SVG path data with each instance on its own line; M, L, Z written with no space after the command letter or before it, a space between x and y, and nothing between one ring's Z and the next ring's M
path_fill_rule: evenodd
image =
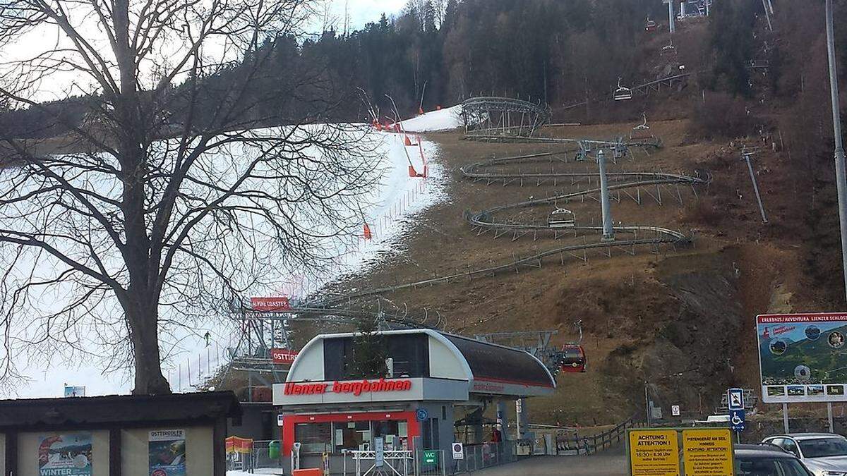
M705 86L750 95L746 64L755 56L750 31L759 14L758 2L715 3L708 48L695 58L708 73ZM667 24L667 9L656 0L409 0L401 14L383 14L360 30L327 25L318 36L268 37L241 64L191 79L202 82L208 106L195 113L212 117L215 104L244 80L247 64L251 70L259 64L262 75L250 79L251 87L262 89L262 97L274 91L276 99L248 98L241 118L246 126L370 120L368 105L393 116L390 99L404 117L480 95L554 107L579 102L612 91L619 77L632 82L650 75L642 46L648 18ZM667 36L663 28L656 35ZM776 89L781 53L778 47L769 51ZM183 119L183 89L189 88L170 91L164 123ZM88 107L86 97L70 97L11 108L0 115L0 126L19 137L55 136L65 124L84 121Z

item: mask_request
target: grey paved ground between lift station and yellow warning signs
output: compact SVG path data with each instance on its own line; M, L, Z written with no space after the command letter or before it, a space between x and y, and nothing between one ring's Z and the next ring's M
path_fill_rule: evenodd
M531 457L496 468L475 471L479 476L627 476L627 457L601 453L591 457Z

